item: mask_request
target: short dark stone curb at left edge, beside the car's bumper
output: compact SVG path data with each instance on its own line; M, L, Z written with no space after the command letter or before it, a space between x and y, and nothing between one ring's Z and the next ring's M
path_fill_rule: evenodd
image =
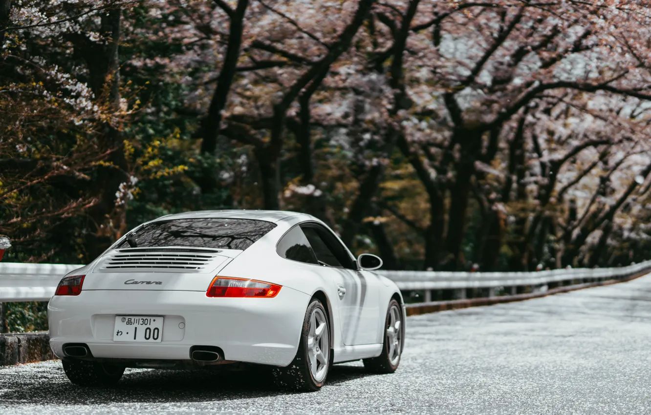
M48 332L0 334L0 366L55 358L49 347Z

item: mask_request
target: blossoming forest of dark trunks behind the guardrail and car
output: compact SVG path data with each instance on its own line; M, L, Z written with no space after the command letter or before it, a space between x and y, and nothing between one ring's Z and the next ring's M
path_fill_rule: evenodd
M0 0L4 261L197 209L311 213L386 269L647 259L646 4Z

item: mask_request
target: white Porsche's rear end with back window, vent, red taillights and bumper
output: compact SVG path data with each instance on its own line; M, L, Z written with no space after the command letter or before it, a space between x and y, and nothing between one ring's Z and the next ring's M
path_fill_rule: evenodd
M264 276L223 273L274 226L244 219L145 224L61 280L48 306L55 355L145 368L288 365L309 295Z

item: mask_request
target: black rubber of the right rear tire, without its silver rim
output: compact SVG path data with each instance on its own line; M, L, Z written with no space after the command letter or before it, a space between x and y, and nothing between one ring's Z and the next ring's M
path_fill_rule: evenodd
M325 373L320 373L322 379L317 380L311 370L310 356L308 355L308 335L310 330L310 319L314 310L320 310L325 317L325 330L327 330L327 364L318 363L319 370L324 370ZM296 357L285 368L273 368L273 378L275 384L282 389L286 390L299 390L304 392L316 392L326 383L327 372L331 362L331 350L329 349L330 338L330 325L326 309L318 299L312 299L303 318L303 327L301 328L301 341L296 351ZM318 349L317 349L318 350Z

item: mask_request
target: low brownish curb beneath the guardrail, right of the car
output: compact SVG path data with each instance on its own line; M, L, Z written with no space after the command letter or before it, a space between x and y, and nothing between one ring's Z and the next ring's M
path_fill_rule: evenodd
M648 273L644 272L640 274L635 274L633 276L629 276L627 278L623 278L621 280L607 280L607 281L600 281L600 282L590 282L588 284L577 284L575 286L553 288L542 293L503 295L500 297L490 297L490 298L484 297L480 299L432 301L432 302L420 302L418 304L407 304L406 312L407 315L419 315L419 314L442 312L447 310L458 310L460 308L492 306L493 304L503 304L506 302L525 301L525 300L537 299L540 297L547 297L547 295L567 293L569 291L576 291L577 289L609 286L611 284L627 282L630 280L635 280L635 278L639 278L646 274Z

